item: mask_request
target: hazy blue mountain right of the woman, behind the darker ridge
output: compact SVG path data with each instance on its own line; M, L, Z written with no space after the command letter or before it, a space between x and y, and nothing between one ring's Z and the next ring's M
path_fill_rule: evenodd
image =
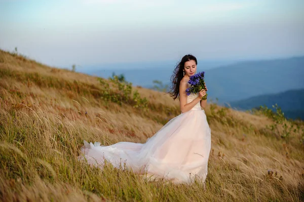
M220 103L304 88L304 57L247 61L206 71L210 97Z

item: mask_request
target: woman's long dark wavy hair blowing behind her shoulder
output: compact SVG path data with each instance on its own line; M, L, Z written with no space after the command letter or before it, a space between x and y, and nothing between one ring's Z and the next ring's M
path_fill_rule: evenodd
M183 78L183 69L185 66L185 62L190 60L194 60L195 63L198 64L196 57L188 54L182 57L181 61L177 63L174 67L173 74L171 76L171 87L169 91L170 96L173 97L174 100L176 98L179 99L179 84L180 80Z

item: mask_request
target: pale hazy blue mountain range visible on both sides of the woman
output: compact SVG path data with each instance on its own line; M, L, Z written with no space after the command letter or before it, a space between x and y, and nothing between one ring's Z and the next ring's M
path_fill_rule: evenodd
M142 64L125 64L128 69L110 65L90 73L109 77L112 72L123 73L129 82L145 88L153 87L153 80L160 80L164 86L170 83L174 62ZM220 63L213 63L220 65ZM132 66L134 69L132 69ZM135 69L136 67L136 69ZM212 68L211 68L212 67ZM210 63L198 63L198 71L206 72L209 98L218 98L220 104L246 99L252 96L280 93L291 89L304 88L304 56L289 59L244 61L233 64L221 63L220 67Z

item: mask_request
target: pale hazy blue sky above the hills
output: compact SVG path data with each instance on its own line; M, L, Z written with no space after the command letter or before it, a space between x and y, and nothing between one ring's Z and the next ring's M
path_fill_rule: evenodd
M304 1L0 0L0 49L54 66L304 55Z

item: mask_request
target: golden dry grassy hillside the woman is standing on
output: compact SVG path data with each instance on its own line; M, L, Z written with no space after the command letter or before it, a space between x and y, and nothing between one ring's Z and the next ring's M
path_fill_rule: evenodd
M206 190L146 182L124 168L79 163L80 147L83 140L143 143L180 114L178 101L4 51L0 77L2 201L304 200L302 122L280 119L273 129L274 118L209 103Z

